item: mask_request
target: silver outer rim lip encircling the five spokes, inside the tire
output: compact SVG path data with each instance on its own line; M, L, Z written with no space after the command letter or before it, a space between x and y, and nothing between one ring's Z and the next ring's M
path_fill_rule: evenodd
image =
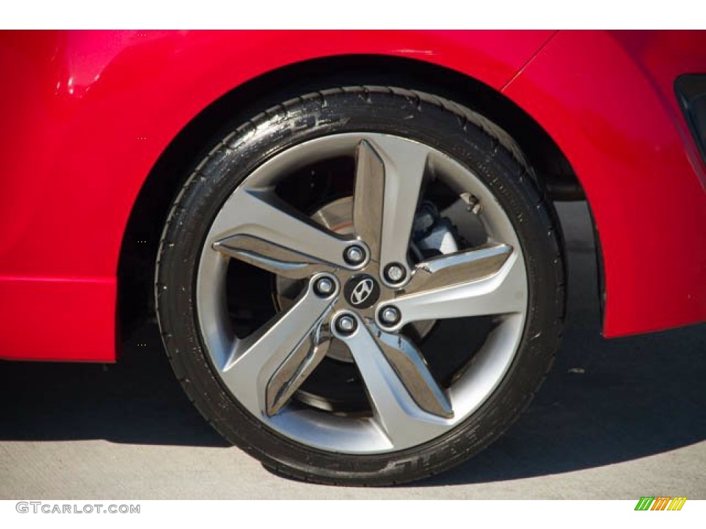
M320 159L351 154L354 152L355 145L361 140L374 142L379 136L394 135L366 132L341 133L308 140L289 147L251 171L251 174L234 188L229 197L246 189L272 186L283 176ZM517 265L522 270L525 297L527 298L527 272L522 246L510 218L505 214L489 188L473 171L436 147L409 138L399 136L396 138L412 142L419 145L419 148L432 152L435 169L445 175L447 183L451 183L459 189L471 191L479 197L481 203L484 204L483 224L486 233L491 238L513 247L510 259L519 260ZM215 368L222 385L236 401L241 403L238 398L238 389L229 387L222 377L231 348L231 336L234 336L227 318L227 305L223 294L229 260L211 248L211 240L216 235L213 233L213 226L215 226L215 221L224 207L225 202L209 226L198 260L196 314L201 341L208 353L210 363ZM280 413L272 417L261 410L248 408L248 411L257 420L279 434L295 442L325 451L344 454L379 454L408 449L424 444L424 442L430 442L469 418L489 399L507 374L515 358L522 339L526 316L526 304L522 312L503 316L503 322L493 329L484 345L477 351L472 365L467 366L462 375L448 388L448 398L455 411L454 417L440 419L443 427L440 428L437 435L428 439L410 439L409 442L393 444L374 417L344 418L325 411L300 409L291 404L285 406ZM247 406L244 407L247 408Z

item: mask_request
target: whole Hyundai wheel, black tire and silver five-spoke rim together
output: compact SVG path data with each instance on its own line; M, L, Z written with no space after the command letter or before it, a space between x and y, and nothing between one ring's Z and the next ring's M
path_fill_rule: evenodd
M529 169L480 121L416 93L332 91L199 164L164 232L158 312L229 439L290 475L390 482L517 415L556 347L560 326L543 341L537 326L561 324L563 264Z

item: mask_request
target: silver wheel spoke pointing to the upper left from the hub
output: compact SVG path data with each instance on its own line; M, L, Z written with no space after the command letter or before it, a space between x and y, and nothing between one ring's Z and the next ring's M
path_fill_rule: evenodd
M216 217L214 250L292 279L345 266L345 239L313 224L268 191L239 190Z

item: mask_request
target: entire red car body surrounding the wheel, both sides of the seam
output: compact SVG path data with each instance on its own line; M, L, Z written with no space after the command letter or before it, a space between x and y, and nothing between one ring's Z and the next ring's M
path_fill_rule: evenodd
M706 166L674 94L702 32L0 32L0 358L110 362L131 210L234 89L325 57L476 80L556 142L602 249L604 334L706 320Z

